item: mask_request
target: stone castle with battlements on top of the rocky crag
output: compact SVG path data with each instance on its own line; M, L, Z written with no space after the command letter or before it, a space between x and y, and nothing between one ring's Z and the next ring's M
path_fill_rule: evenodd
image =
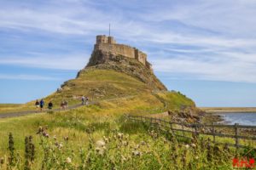
M117 43L113 37L107 37L105 35L96 36L96 44L94 50L101 50L113 55L122 55L128 58L137 59L148 69L152 70L151 64L147 61L147 54L137 48L132 48L128 45Z

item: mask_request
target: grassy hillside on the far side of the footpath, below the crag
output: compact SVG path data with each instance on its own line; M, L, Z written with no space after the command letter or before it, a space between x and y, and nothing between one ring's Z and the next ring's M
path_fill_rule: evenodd
M90 100L97 101L142 94L151 95L151 92L152 88L148 87L147 84L125 73L112 70L87 69L80 73L79 78L65 82L61 92L50 94L44 100L46 104L49 100L52 100L54 107L57 108L63 99L67 99L69 105L80 103L82 95L88 96ZM192 100L185 98L181 94L172 93L169 98L172 99L171 105L173 109L177 109L183 102L194 105ZM0 113L35 110L34 103L35 101L31 101L25 105L17 105L15 107L3 105L0 107Z

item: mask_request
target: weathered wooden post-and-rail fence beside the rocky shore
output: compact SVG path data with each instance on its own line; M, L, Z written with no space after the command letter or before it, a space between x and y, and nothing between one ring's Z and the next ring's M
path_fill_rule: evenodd
M200 123L183 123L183 122L169 122L163 119L147 116L127 116L130 120L138 122L147 122L151 126L157 127L162 131L172 132L176 136L192 139L185 133L199 135L210 135L212 136L212 142L216 144L227 144L235 146L236 148L247 147L246 144L240 144L240 140L244 139L247 141L255 141L256 136L251 133L256 133L256 126L244 126L235 123L234 125L223 125L223 124L200 124ZM182 134L178 134L181 132ZM233 134L232 134L233 133ZM242 136L240 133L246 133L247 136ZM221 143L216 137L235 139L235 144ZM254 145L251 147L255 147Z

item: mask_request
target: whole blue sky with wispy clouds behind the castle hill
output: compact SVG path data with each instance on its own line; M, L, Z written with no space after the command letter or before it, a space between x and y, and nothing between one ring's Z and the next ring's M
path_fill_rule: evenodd
M0 0L0 103L53 93L96 35L148 54L155 74L199 106L256 106L256 1Z

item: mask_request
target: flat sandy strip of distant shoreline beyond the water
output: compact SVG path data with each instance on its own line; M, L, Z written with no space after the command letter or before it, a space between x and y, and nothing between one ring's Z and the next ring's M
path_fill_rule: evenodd
M256 113L256 107L200 107L207 113Z

